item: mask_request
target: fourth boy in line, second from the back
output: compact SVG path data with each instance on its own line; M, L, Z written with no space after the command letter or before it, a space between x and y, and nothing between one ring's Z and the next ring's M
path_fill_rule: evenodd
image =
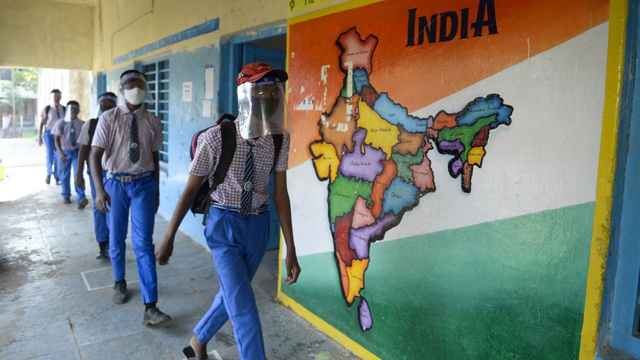
M83 126L83 121L78 117L79 113L80 104L76 101L67 102L65 118L58 120L51 130L58 150L58 172L62 183L62 198L65 204L71 204L71 168L74 168L74 174L76 174L75 170L77 170L78 166L80 143L77 142L77 138ZM84 209L89 200L86 199L84 190L75 185L76 182L74 181L78 209Z

